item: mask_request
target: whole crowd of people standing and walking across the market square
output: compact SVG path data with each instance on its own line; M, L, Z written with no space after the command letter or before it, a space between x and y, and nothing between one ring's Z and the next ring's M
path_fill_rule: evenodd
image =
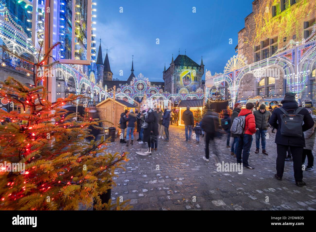
M194 139L192 131L195 132L193 137L197 144L200 143L200 136L205 137L203 159L207 162L210 161L209 146L211 143L211 151L218 162L215 139L226 134L226 147L230 148L230 154L236 158L237 164L252 170L254 166L248 163L248 158L253 134L255 134L255 154L260 152L261 140L262 154L269 155L266 151L266 139L269 136L268 129L273 128L272 133L275 133L274 130L276 130L277 153L275 178L282 180L285 161L293 161L295 184L302 187L306 185L303 181L303 170L313 170L312 150L316 138L316 116L312 114L311 110L299 107L295 100L295 93L286 93L281 104L273 109L271 107L271 110L266 110L264 104L258 106L258 103L249 102L245 108L242 108L240 103L236 103L231 116L228 111L224 111L221 120L219 120L218 113L208 109L203 119L196 123L194 123L193 112L190 107L187 107L181 117L185 125L185 141L189 142ZM133 144L133 131L137 127L138 143L147 142L148 151L145 154L151 154L152 151L157 150L159 139L169 141L169 125L175 123L177 119L177 112L170 109L149 109L139 113L137 111L134 113L133 110L128 113L125 110L120 118L121 133L123 134L120 143L126 143L126 146L129 146L129 143ZM126 141L124 140L125 128L127 128ZM129 142L130 134L131 142ZM230 145L231 137L232 144ZM306 157L307 166L305 167L302 164L305 163Z

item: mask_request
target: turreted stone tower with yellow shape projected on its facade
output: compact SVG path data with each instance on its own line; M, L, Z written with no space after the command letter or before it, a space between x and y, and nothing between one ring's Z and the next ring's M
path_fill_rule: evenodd
M178 57L170 63L170 67L163 71L163 80L165 81L165 91L169 93L179 93L181 89L186 88L188 92L195 92L202 87L202 76L204 74L203 59L201 65L198 65L186 55Z

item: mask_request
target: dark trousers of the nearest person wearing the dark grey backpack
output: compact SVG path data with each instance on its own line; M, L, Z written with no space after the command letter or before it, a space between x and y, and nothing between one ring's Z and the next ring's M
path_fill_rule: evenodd
M284 162L285 162L286 152L288 151L288 148L290 148L291 153L292 153L295 181L302 181L303 179L303 170L302 170L303 147L276 144L276 152L277 152L276 175L278 175L279 177L283 176Z

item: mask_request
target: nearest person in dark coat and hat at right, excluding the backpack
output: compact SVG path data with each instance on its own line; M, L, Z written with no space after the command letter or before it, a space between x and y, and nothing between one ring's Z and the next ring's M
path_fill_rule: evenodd
M298 109L298 104L295 100L295 93L287 92L285 93L284 99L281 101L282 108L289 113L295 112ZM294 178L295 184L299 187L306 185L303 181L303 170L302 170L302 155L303 148L305 146L304 134L301 137L296 136L286 136L281 134L281 115L283 111L277 108L273 111L270 117L269 123L272 127L277 128L276 131L276 174L274 175L277 180L282 180L284 171L284 161L286 158L286 152L290 148L293 158L293 168L294 168ZM302 130L307 131L314 125L314 120L309 114L306 108L302 108L299 114L304 115L304 124L302 125Z

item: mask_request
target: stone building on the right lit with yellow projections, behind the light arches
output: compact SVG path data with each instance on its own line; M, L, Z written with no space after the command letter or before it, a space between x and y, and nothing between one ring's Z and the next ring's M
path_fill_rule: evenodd
M238 33L238 54L251 64L286 50L289 44L306 40L315 25L315 3L315 0L253 1L252 13L245 18L245 27ZM246 74L240 82L238 100L257 95L282 97L288 86L283 73L279 73L279 78L275 74L264 80ZM315 64L308 79L302 95L315 100Z

